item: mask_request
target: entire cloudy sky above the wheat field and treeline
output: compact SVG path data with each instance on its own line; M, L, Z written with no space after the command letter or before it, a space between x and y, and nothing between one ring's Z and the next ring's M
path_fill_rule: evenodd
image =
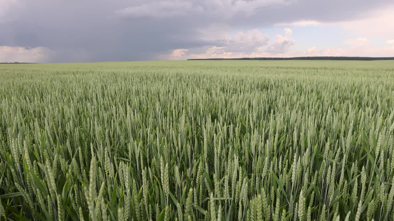
M0 62L394 57L393 0L0 0Z

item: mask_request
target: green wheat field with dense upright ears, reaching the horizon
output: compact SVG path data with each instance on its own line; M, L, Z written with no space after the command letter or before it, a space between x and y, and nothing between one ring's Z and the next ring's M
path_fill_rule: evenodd
M394 220L393 61L0 65L0 220Z

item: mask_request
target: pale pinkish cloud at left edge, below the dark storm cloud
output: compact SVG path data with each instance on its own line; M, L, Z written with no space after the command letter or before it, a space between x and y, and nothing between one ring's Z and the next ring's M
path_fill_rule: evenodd
M45 47L25 48L0 46L0 62L45 62L54 55L50 49Z

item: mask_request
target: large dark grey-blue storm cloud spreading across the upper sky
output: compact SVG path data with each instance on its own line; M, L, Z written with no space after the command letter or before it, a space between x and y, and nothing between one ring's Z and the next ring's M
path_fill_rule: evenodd
M228 39L220 30L229 27L352 20L391 2L6 0L0 9L0 46L48 48L54 53L47 62L147 60L177 48L223 46Z

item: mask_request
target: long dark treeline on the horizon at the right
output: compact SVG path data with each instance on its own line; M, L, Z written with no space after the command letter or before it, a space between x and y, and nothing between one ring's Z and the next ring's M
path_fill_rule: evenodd
M189 60L261 60L261 61L281 61L281 60L346 60L346 61L377 61L394 60L394 57L242 57L242 58L207 58L188 59Z

